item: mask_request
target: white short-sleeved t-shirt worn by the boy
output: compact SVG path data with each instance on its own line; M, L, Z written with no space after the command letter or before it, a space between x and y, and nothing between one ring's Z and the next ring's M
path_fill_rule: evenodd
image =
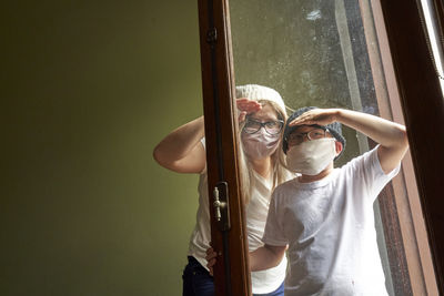
M273 193L263 242L289 244L285 296L385 296L373 202L398 167L384 174L377 147L312 183Z

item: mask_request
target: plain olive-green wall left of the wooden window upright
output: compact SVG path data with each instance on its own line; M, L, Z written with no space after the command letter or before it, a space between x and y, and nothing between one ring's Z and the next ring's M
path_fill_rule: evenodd
M152 150L202 113L196 1L0 14L0 295L180 295L198 180Z

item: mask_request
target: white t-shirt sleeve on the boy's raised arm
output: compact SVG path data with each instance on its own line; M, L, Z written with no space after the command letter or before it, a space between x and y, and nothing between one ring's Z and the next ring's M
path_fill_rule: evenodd
M389 174L385 174L381 167L377 156L377 149L364 153L351 161L347 166L353 172L354 177L361 178L362 186L365 187L372 202L376 200L384 186L400 172L401 163Z

